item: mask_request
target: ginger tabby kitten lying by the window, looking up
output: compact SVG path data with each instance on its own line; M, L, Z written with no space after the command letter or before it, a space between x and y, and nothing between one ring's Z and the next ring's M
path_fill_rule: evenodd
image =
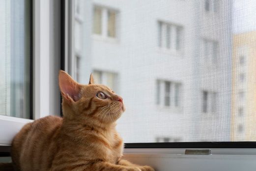
M154 171L122 160L115 121L123 100L105 85L75 82L59 71L63 119L47 116L25 125L12 142L15 171Z

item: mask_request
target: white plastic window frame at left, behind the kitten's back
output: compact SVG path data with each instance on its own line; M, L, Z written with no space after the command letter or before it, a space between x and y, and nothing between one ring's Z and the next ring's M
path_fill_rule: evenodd
M58 115L60 110L60 96L56 84L58 74L57 44L53 39L54 19L57 9L51 0L33 0L33 119L47 115ZM60 8L58 8L60 9ZM56 23L57 24L57 23ZM55 25L56 26L56 25ZM60 28L60 27L59 27ZM57 56L56 56L57 55ZM59 62L58 62L59 61ZM15 134L31 119L0 115L0 146L11 146Z

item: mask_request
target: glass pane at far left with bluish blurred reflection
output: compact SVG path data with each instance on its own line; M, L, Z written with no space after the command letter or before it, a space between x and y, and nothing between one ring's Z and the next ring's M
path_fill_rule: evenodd
M0 115L30 117L30 9L29 0L0 1Z

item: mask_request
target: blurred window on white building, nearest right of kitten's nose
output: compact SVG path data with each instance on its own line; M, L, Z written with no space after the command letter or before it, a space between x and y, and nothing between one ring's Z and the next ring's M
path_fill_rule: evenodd
M157 80L157 105L181 107L181 84Z

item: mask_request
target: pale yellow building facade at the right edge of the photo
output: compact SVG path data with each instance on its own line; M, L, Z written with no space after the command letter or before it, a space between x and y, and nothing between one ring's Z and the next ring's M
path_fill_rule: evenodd
M232 141L256 141L256 31L233 37Z

